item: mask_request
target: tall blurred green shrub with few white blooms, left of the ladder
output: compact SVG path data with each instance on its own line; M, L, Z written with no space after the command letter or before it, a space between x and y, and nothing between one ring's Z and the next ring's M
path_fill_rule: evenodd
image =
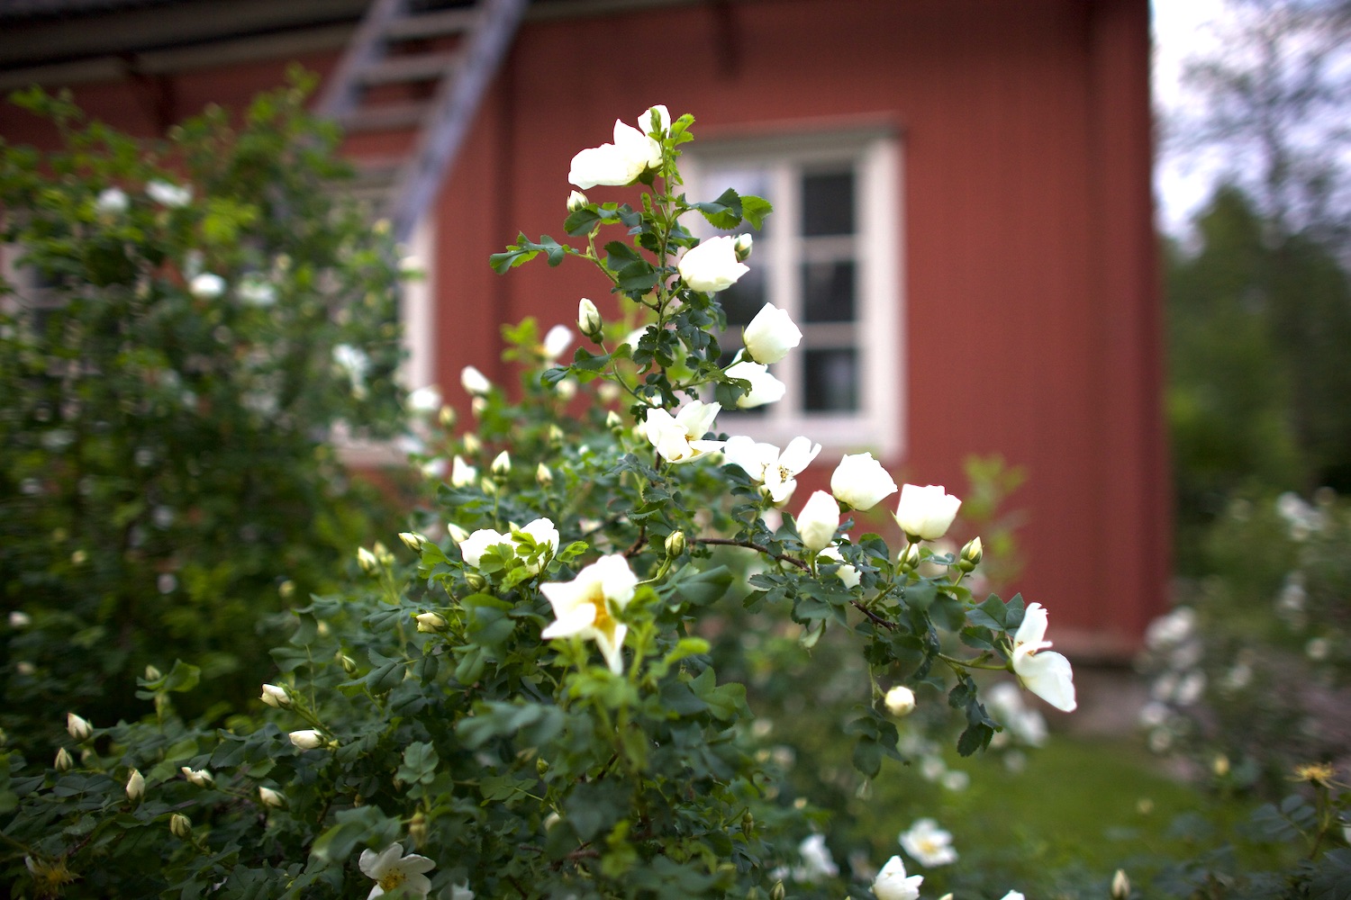
M397 258L353 205L300 77L143 142L65 99L53 152L0 144L0 725L141 707L201 667L238 702L267 614L332 584L380 513L326 443L400 417ZM247 675L238 675L247 672Z

